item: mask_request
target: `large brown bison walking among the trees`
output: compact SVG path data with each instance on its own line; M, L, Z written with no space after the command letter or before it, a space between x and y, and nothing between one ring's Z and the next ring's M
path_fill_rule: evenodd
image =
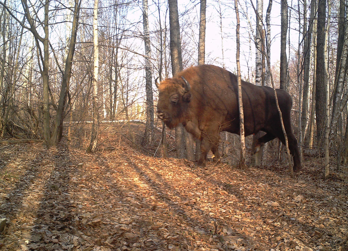
M191 66L173 78L158 85L157 116L169 127L183 123L185 129L201 140L201 156L198 165L206 164L212 150L214 161L220 158L219 132L239 134L239 109L237 77L214 65ZM302 166L297 140L292 132L290 95L277 89L279 108L282 111L294 171ZM267 86L256 86L242 81L245 136L264 131L256 140L254 152L275 138L285 144L285 138L276 107L274 91Z

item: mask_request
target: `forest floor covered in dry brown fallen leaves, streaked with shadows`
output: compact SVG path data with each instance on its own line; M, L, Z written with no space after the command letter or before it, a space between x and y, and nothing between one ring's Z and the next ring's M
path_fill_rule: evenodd
M323 182L315 159L294 178L279 166L197 167L118 135L108 144L0 144L0 250L348 251L347 173Z

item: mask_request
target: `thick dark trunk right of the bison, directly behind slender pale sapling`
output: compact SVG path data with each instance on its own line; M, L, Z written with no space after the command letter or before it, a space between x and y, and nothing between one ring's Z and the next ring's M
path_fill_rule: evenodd
M317 17L317 69L316 69L316 90L315 90L315 113L317 122L318 144L324 142L325 136L325 84L326 84L326 64L325 64L325 20L326 20L326 0L318 1Z

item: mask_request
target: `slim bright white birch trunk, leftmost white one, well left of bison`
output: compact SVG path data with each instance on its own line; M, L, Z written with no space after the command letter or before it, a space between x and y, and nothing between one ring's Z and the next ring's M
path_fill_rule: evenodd
M99 135L99 102L98 102L98 70L99 70L99 47L98 47L98 0L94 0L93 8L93 124L90 133L90 143L87 151L94 152L97 148Z

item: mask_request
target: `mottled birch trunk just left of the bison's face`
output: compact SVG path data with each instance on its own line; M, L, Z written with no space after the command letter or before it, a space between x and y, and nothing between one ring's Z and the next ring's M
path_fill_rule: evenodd
M151 69L151 47L150 32L148 21L148 0L143 0L143 27L144 27L144 45L145 45L145 91L146 91L146 125L142 146L145 149L150 147L153 137L153 97L152 97L152 69Z

